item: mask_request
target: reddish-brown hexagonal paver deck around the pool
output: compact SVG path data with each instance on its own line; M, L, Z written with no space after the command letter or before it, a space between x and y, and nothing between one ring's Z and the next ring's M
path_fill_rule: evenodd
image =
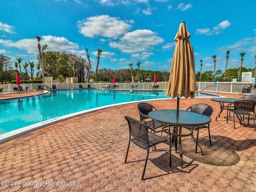
M25 96L14 94L21 95ZM176 99L148 103L157 109L176 109ZM169 167L167 144L159 144L156 152L150 150L146 180L141 180L146 150L131 144L129 163L124 164L129 138L124 116L139 118L138 103L132 103L84 114L0 144L0 182L16 182L12 186L1 183L0 191L255 192L256 132L252 118L249 126L247 117L242 125L236 120L236 129L232 117L226 123L225 111L215 121L220 105L210 98L180 99L180 110L196 103L213 108L212 146L207 130L200 130L199 135L203 156L194 152L192 138L182 138L183 169L173 146ZM38 184L24 186L18 182Z

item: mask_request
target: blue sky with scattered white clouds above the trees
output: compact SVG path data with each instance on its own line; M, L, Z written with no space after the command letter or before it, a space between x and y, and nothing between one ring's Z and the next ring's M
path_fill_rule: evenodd
M180 22L191 34L196 72L224 72L255 67L255 0L0 0L0 53L37 63L36 35L48 51L66 51L86 58L92 70L102 48L99 68L170 72L174 37ZM87 58L86 58L87 59ZM215 70L215 71L216 71Z

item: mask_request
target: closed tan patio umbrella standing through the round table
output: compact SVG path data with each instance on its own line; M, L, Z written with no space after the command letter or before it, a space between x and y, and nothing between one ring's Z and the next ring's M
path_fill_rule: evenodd
M174 38L176 45L166 90L167 96L172 98L177 96L177 115L179 111L179 98L182 96L194 98L194 92L196 91L194 50L188 38L190 38L190 33L185 23L182 22Z

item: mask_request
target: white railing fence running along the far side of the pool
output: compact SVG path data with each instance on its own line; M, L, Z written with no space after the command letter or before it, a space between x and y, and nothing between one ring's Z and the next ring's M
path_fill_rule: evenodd
M24 90L28 86L28 90L38 90L38 85L42 84L21 84ZM97 88L105 89L105 87L112 85L112 82L109 83L47 83L47 87L52 88L52 85L56 86L58 90L67 90L67 89L79 89L79 85L82 85L82 88ZM116 83L119 90L152 90L152 83L142 82L135 83L134 88L132 88L132 83ZM159 90L166 90L168 82L158 82ZM205 92L220 92L220 93L242 93L244 87L250 87L250 82L196 82L198 92L204 90ZM13 88L17 87L16 84L0 84L0 88L4 88L3 93L13 93Z

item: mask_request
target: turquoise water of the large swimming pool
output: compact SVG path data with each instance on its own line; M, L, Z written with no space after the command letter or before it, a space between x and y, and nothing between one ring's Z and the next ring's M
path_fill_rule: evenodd
M200 94L201 96L213 96ZM96 107L166 98L165 91L54 90L48 94L0 101L0 134Z

